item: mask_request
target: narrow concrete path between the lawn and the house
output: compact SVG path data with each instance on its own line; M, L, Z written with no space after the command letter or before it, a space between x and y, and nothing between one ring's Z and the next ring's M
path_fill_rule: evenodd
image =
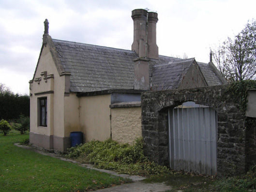
M105 169L98 169L93 167L93 165L90 164L81 164L75 160L72 159L67 159L62 157L60 154L56 154L53 152L49 152L49 151L45 151L42 148L39 147L35 147L35 146L24 146L24 145L19 145L19 144L15 144L15 146L17 147L21 147L30 151L35 151L37 153L40 153L42 155L47 155L53 158L57 158L60 159L62 161L68 161L68 162L72 162L78 165L81 165L83 167L86 167L88 169L94 169L100 172L105 172L108 173L110 175L114 175L114 176L118 176L121 178L130 178L131 180L133 180L133 183L126 183L126 184L122 184L122 185L117 185L115 187L111 187L111 188L106 188L106 189L101 189L101 190L97 190L95 192L165 192L165 191L169 191L171 190L171 186L167 186L165 183L144 183L142 180L146 179L145 177L141 177L141 176L131 176L131 175L127 175L127 174L118 174L115 171L110 171L110 170L105 170Z

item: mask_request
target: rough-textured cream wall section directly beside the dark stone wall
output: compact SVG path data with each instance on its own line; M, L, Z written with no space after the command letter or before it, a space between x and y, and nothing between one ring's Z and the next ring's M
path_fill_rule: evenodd
M119 143L133 144L136 138L142 136L141 108L111 109L112 139Z

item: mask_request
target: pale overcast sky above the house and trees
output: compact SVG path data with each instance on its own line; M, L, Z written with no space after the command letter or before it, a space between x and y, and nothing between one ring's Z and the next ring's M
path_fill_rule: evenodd
M210 47L256 19L256 0L0 0L0 83L29 94L46 18L53 39L130 50L141 8L158 13L160 55L205 63Z

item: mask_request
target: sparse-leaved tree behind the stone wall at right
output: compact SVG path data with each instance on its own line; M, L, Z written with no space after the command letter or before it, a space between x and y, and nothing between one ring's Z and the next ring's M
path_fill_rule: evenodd
M256 80L256 20L212 50L213 59L227 81Z

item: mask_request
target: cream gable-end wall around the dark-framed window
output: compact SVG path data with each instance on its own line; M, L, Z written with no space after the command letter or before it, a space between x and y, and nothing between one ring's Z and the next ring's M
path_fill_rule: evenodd
M54 79L44 80L42 72L47 71L47 75L53 74ZM60 77L52 55L46 45L41 53L40 60L35 71L34 80L42 78L40 83L30 83L30 132L41 135L64 136L64 76ZM50 92L50 91L54 91ZM48 92L48 93L45 93ZM50 92L50 93L49 93ZM47 97L47 127L38 126L38 104L40 97ZM53 121L53 117L54 120ZM62 129L62 130L61 130Z

